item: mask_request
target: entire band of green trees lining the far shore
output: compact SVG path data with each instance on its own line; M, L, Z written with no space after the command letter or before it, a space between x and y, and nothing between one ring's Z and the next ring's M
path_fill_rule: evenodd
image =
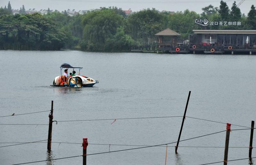
M154 35L166 28L181 34L178 40L188 39L193 29L205 29L195 25L195 19L207 18L217 23L241 23L239 26L207 26L207 29L256 29L256 10L246 17L242 15L236 2L228 7L220 1L220 6L208 5L202 13L159 12L144 9L126 15L117 7L100 7L86 14L69 16L67 11L47 14L26 14L23 5L19 14L13 15L10 2L0 8L0 49L17 50L59 50L81 47L85 51L129 51L134 45L152 45L157 41Z

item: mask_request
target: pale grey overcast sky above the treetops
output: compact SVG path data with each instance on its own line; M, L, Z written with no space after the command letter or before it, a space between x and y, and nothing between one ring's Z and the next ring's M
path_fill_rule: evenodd
M8 5L9 0L0 0L0 6ZM231 9L234 0L225 0ZM237 4L241 0L236 1ZM19 9L22 5L26 10L35 8L36 10L48 9L64 11L67 9L76 11L99 9L99 7L117 6L122 10L131 9L133 12L147 8L155 8L159 11L184 11L186 9L202 13L202 7L212 4L219 7L220 0L10 0L12 9ZM245 15L251 9L252 4L256 6L256 0L245 0L240 6L240 10Z

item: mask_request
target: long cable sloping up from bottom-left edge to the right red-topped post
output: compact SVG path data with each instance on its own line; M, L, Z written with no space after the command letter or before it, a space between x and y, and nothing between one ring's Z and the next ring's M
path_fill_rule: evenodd
M226 130L225 130L225 131L226 131ZM198 137L193 137L193 138L189 138L189 139L184 139L184 140L180 140L180 141L191 140L191 139L195 139L195 138L199 138L199 137L203 137L203 136L208 136L208 135L213 135L213 134L217 134L217 133L221 133L221 132L225 132L225 131L219 131L219 132L215 132L215 133L211 133L211 134L206 134L206 135L202 135L202 136L198 136ZM154 145L154 146L145 146L145 147L138 147L138 148L124 149L124 150L116 150L116 151L108 151L108 152L92 153L92 154L87 154L87 156L89 156L89 155L97 155L97 154L104 154L104 153L111 153L111 152L120 152L120 151L136 150L136 149L149 148L149 147L158 147L158 146L163 146L163 145L173 144L173 143L176 143L176 142L177 142L177 141L175 141L175 142L170 142L170 143L167 143L167 144ZM43 161L35 161L35 162L19 163L19 164L13 164L13 165L30 164L30 163L38 163L38 162L46 162L46 161L53 161L53 160L59 160L59 159L68 159L68 158L72 158L72 157L79 157L79 156L83 156L83 155L70 156L70 157L62 157L62 158L50 159L50 160L43 160Z

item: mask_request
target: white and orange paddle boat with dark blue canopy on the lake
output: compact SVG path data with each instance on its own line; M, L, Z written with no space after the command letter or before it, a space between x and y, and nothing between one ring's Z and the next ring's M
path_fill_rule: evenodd
M75 71L75 69L79 70L78 75L69 75L68 77L62 74L63 69L67 69L69 72ZM70 71L72 70L72 71ZM99 83L98 80L94 80L90 77L86 77L81 75L82 67L73 67L70 64L64 63L60 65L60 76L57 76L53 80L53 85L55 87L92 87L94 84Z

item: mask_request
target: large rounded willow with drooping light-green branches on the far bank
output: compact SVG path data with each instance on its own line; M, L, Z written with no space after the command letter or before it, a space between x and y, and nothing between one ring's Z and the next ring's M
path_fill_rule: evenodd
M83 41L81 48L89 51L106 51L108 39L113 39L117 28L124 25L124 18L115 11L92 11L84 15L82 20Z

